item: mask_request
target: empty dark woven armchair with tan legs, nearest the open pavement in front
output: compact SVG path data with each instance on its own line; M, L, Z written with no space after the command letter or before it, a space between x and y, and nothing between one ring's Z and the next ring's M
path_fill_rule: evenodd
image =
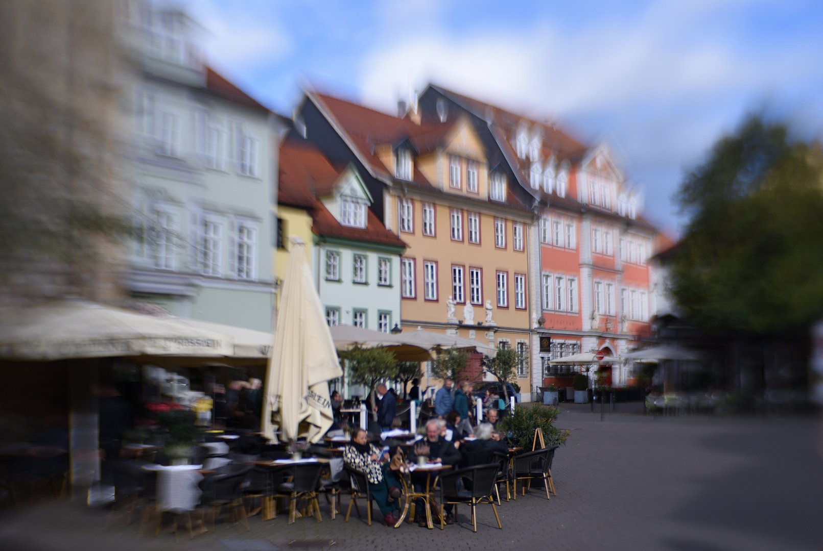
M472 527L477 532L477 505L489 503L495 513L497 527L501 530L500 516L495 507L495 498L492 490L497 486L497 475L500 471L499 463L473 465L465 469L452 470L440 475L440 530L443 530L445 512L444 505L454 505L454 517L458 516L458 505L467 503L472 506Z

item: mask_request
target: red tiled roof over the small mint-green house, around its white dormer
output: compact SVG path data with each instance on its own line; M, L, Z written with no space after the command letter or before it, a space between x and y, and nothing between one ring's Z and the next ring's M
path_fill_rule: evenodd
M346 166L335 167L318 146L291 131L280 146L277 202L309 211L315 234L406 248L406 243L388 231L370 209L366 209L365 229L350 228L338 222L317 199L332 194L344 170Z

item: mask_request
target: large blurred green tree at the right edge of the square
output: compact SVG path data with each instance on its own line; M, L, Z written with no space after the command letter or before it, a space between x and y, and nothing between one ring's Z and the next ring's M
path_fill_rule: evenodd
M690 215L667 257L686 317L711 330L769 333L823 314L823 155L782 124L747 118L686 174Z

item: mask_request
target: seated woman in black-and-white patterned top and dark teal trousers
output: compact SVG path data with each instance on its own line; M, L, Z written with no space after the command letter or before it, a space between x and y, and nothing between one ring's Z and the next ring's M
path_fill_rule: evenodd
M399 511L400 482L392 470L388 469L388 454L384 454L374 444L367 442L362 428L351 435L351 443L343 451L343 462L351 469L363 473L369 481L369 490L383 513L383 523L394 526Z

